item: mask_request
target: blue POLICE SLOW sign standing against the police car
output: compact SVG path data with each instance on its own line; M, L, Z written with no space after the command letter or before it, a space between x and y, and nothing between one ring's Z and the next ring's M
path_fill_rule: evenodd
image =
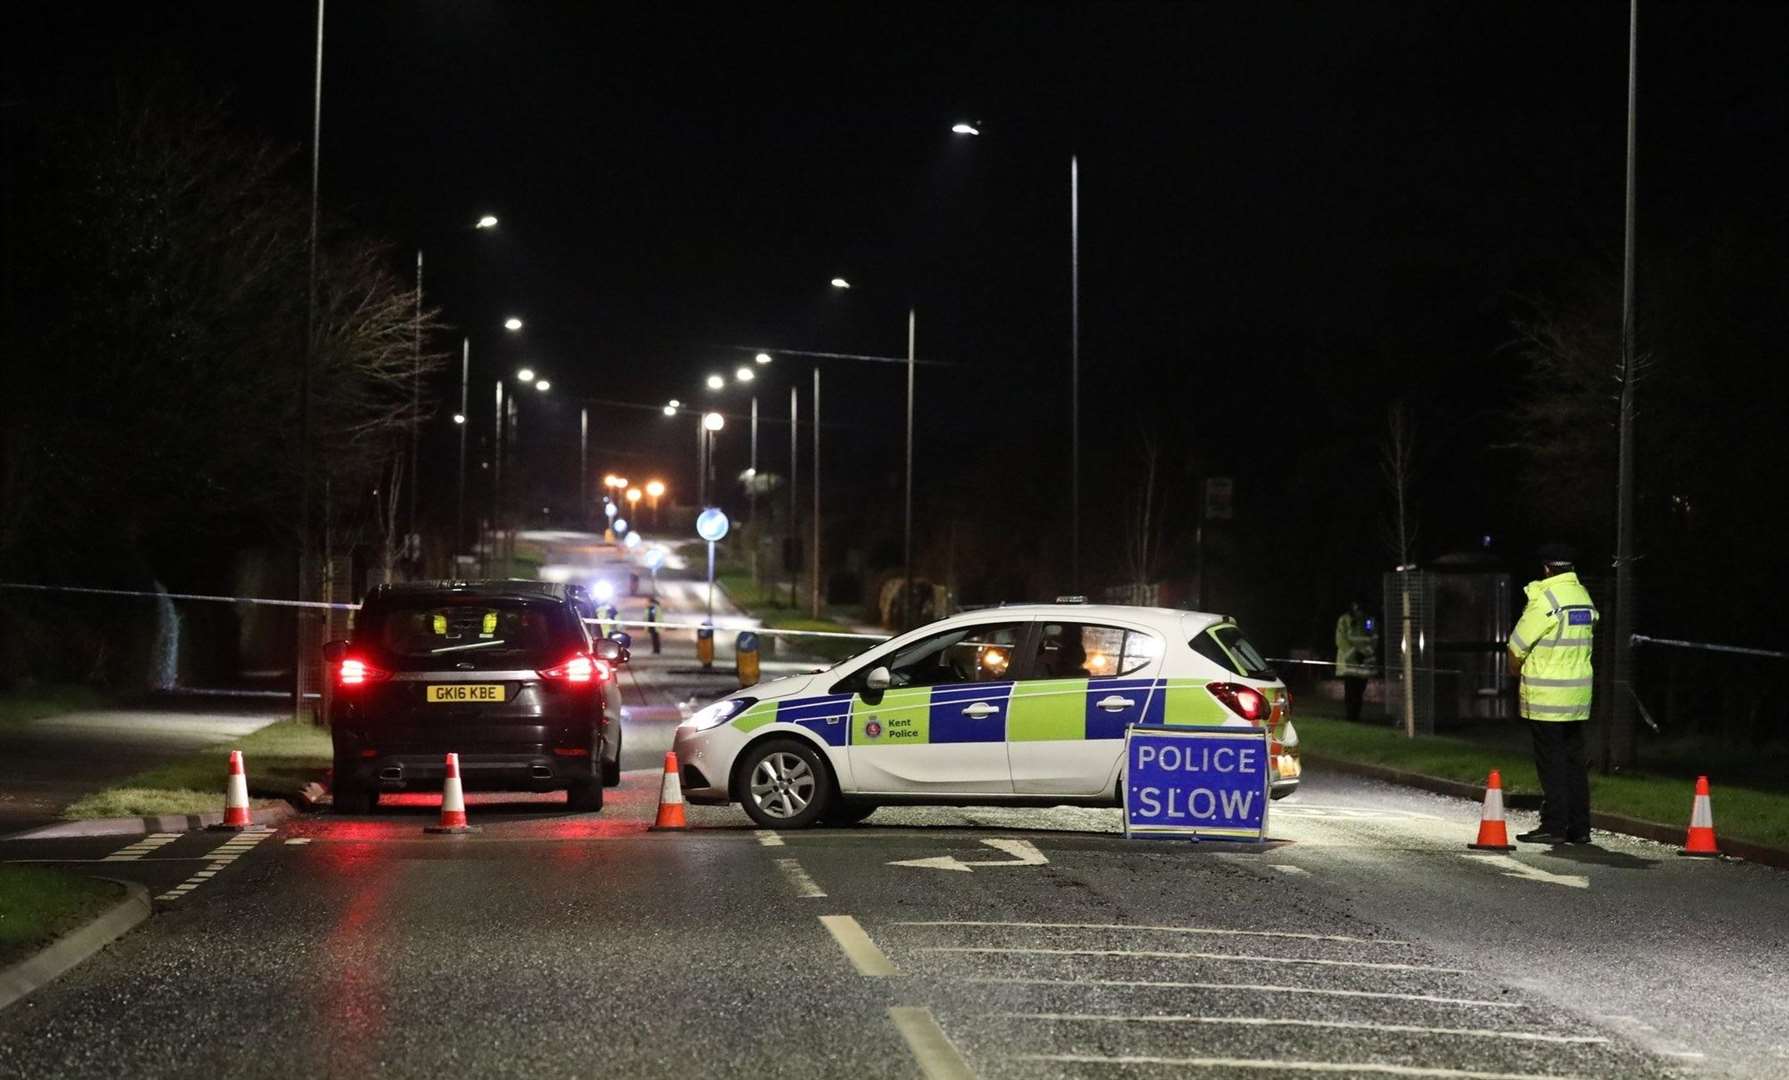
M1123 835L1267 837L1265 728L1129 728Z

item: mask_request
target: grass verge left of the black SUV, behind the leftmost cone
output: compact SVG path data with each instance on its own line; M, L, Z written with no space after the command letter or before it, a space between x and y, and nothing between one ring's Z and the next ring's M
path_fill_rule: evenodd
M186 755L129 776L114 787L81 799L63 817L147 817L152 814L204 814L224 808L224 774L229 751L240 749L249 769L249 803L274 806L329 769L329 730L295 721L277 721L252 735Z

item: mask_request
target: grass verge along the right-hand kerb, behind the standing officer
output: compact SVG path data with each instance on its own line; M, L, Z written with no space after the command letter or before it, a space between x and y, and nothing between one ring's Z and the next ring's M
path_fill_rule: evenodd
M1447 735L1404 738L1390 728L1349 724L1310 713L1295 715L1299 744L1311 755L1344 762L1363 762L1458 780L1485 783L1485 776L1503 772L1506 792L1539 794L1533 758L1522 749L1485 746ZM1789 849L1789 794L1751 787L1730 787L1710 772L1714 823L1723 837ZM1660 824L1689 824L1696 776L1666 772L1590 772L1590 808L1623 814Z

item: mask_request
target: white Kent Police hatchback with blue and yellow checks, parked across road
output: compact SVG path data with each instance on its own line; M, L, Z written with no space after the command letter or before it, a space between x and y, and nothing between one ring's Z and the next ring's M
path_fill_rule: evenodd
M1299 783L1292 699L1231 619L1084 603L954 615L827 671L748 687L676 731L683 796L764 828L886 803L1120 801L1132 724L1267 726Z

